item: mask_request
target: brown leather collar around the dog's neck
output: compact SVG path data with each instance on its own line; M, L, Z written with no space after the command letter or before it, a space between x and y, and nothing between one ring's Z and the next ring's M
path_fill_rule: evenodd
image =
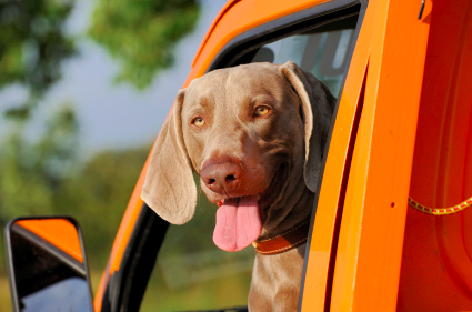
M258 240L252 245L261 254L279 254L304 244L309 230L310 219L273 238Z

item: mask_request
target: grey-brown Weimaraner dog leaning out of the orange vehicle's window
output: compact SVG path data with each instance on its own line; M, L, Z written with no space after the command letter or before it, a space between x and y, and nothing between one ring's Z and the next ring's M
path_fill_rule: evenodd
M298 310L334 104L328 88L291 61L242 64L179 91L159 134L141 198L164 220L183 224L197 204L192 171L200 177L219 205L214 243L258 251L249 311Z

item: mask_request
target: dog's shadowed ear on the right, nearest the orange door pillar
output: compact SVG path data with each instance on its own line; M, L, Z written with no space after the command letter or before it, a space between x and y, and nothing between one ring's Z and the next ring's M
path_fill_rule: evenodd
M279 70L301 100L305 143L304 181L310 191L315 192L337 99L327 85L313 74L303 72L294 62L288 61Z

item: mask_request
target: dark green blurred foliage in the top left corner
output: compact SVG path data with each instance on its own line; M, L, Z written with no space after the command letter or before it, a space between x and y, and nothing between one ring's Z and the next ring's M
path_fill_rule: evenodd
M24 120L38 99L61 77L60 64L74 54L63 23L73 1L0 1L0 90L12 83L28 88L27 102L6 112Z

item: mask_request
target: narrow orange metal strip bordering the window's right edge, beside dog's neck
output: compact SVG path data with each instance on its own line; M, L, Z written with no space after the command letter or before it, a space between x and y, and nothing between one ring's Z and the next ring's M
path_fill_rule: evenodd
M334 265L333 243L339 229L343 199L343 182L347 182L345 167L349 164L349 150L353 144L352 131L361 98L364 76L368 68L372 40L375 4L369 4L363 19L351 66L341 95L334 123L323 182L313 224L310 254L307 264L301 311L325 311L327 292L331 292L332 265ZM351 148L352 149L352 148ZM328 302L329 306L329 302Z

